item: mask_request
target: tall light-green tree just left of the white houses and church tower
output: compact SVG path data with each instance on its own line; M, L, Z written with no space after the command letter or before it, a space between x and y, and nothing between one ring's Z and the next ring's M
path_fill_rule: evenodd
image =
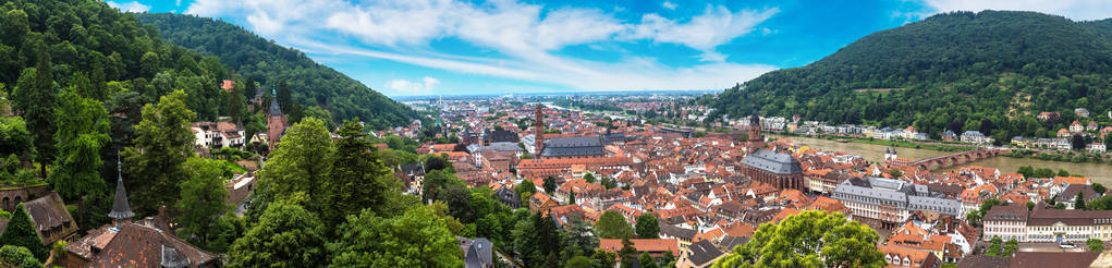
M183 163L193 156L193 133L189 125L197 113L186 108L187 96L177 90L162 96L158 105L142 108L136 127L135 146L123 151L126 182L132 193L132 209L151 215L158 207L173 206L181 192L178 183L189 178Z

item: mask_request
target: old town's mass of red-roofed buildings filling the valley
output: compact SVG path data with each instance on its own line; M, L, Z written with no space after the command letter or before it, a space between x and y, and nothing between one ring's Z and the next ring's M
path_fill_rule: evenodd
M661 238L633 242L639 251L654 257L666 252L677 256L678 267L707 267L747 241L761 224L778 222L811 209L841 212L884 234L877 249L892 267L941 267L946 262L962 266L966 259L981 261L966 262L964 267L969 267L985 261L983 256L974 254L974 244L991 240L997 231L1029 239L1021 241L1048 241L1044 234L1015 232L1019 229L1012 224L996 229L994 212L984 217L984 229L974 227L966 216L979 210L983 201L995 198L1025 208L1027 201L1059 197L1069 204L1066 199L1076 188L1090 183L1088 178L1024 178L983 167L932 173L912 165L910 159L900 158L895 151L890 151L884 162L868 162L852 153L823 151L791 140L767 140L761 133L793 126L795 131L923 138L914 128L870 130L749 117L727 121L742 126L739 129L744 131L693 137L685 129L626 120L615 123L613 119L568 109L515 107L490 100L476 102L481 103L471 106L503 112L468 110L448 125L460 133L460 143L428 143L419 152L447 155L469 186L490 187L503 204L545 212L560 226L573 218L593 222L605 211L619 212L629 224L641 215L652 214L659 219ZM738 140L745 131L749 139ZM976 131L953 136L965 142L992 142ZM901 171L898 177L892 176L893 169ZM401 176L414 181L409 192L420 191L419 176L413 176L417 173ZM554 192L540 188L546 178L556 180ZM513 191L524 180L537 187L530 197L518 197ZM604 180L614 185L607 186ZM1082 195L1086 199L1096 197ZM1071 216L1082 212L1040 206L1042 210L1032 212L1036 215L1034 218L1016 217L1024 222L1032 219L1042 222L1046 217L1090 217L1084 218L1090 221L1070 221L1079 225L1085 221L1089 226L1079 227L1075 234L1060 234L1062 239L1112 240L1112 235L1094 231L1105 228L1096 226L1103 225L1103 218ZM1112 232L1112 220L1109 222L1108 231ZM1085 230L1088 236L1078 235ZM1032 235L1041 240L1032 239ZM1050 241L1055 239L1052 236ZM620 240L614 239L602 239L599 245L614 251L620 247ZM1021 255L1011 260L1037 262L1048 258ZM1089 261L1096 259L1095 255L1091 257Z

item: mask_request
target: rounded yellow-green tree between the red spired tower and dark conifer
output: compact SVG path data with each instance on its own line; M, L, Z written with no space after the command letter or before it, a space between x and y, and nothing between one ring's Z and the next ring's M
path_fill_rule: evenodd
M304 195L315 204L307 209L319 211L312 206L324 206L321 185L331 170L327 160L332 155L331 140L325 123L316 118L294 125L270 152L259 182L272 187L275 200Z

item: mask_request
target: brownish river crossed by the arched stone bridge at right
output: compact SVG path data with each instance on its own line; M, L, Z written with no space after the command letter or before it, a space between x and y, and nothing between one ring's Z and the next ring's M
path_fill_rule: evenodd
M833 140L805 138L805 137L787 137L787 136L776 136L776 135L772 135L770 137L790 139L795 141L796 145L806 145L810 146L811 148L825 151L844 151L862 156L865 158L865 160L873 162L883 162L884 149L888 148L885 146L872 145L872 143L861 143L852 141L837 142ZM898 152L900 157L912 160L953 153L947 151L913 149L913 148L896 148L896 152ZM1095 163L1095 162L1060 162L1060 161L1039 160L1032 158L1011 158L1003 156L981 159L977 161L967 162L959 167L950 167L936 170L935 172L954 170L964 166L981 166L981 167L996 168L1000 169L1001 173L1015 172L1022 166L1032 166L1035 168L1050 168L1054 169L1055 171L1059 169L1065 169L1069 170L1071 173L1083 175L1089 178L1092 178L1093 182L1100 182L1102 185L1112 185L1112 165Z

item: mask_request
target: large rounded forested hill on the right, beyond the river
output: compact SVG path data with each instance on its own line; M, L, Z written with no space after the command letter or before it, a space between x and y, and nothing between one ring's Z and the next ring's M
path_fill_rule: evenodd
M1112 20L1021 11L950 12L864 37L811 64L765 73L698 102L715 116L981 130L1049 137L1074 119L1109 122ZM1093 113L1076 118L1075 108ZM1059 111L1061 120L1035 115Z

